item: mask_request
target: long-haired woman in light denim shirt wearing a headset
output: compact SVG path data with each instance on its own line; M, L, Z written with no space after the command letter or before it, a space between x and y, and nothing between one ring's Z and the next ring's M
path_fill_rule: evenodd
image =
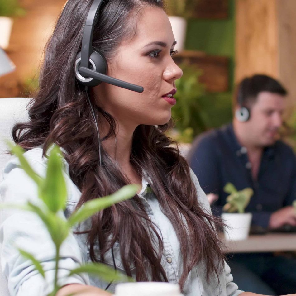
M179 283L184 295L255 295L232 282L215 233L220 222L164 134L182 75L172 58L175 43L161 0L68 0L46 46L30 120L14 127L13 138L40 175L50 144L62 148L65 217L92 198L142 184L131 200L94 215L89 227L68 237L60 276L80 262L103 261L137 281ZM16 160L7 164L0 189L5 202L36 199ZM55 250L41 222L26 215L2 223L2 266L12 295L45 295L50 285L13 248L29 247L52 279ZM59 296L114 291L114 284L90 275L62 284Z

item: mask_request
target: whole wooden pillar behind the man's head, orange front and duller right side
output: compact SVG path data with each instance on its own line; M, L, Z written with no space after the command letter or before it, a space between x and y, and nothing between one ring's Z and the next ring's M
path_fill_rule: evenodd
M295 0L236 0L235 81L255 73L275 77L290 106L296 105L295 11Z

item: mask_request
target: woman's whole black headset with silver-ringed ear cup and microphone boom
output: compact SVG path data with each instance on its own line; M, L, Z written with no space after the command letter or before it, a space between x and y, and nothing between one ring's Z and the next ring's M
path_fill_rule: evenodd
M81 51L75 59L75 77L77 81L86 86L96 86L106 82L138 93L144 88L106 75L108 65L106 58L93 48L93 29L98 11L103 0L94 0L84 25Z

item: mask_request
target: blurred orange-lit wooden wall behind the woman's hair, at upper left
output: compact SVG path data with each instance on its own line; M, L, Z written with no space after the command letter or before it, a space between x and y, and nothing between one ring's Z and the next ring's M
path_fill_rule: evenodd
M0 77L0 98L25 96L24 81L32 78L41 64L45 43L65 0L21 0L26 15L14 20L7 54L16 65Z

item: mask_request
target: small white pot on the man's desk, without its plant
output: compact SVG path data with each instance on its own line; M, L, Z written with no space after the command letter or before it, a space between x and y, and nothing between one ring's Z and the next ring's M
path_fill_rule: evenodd
M249 236L252 214L251 213L222 213L222 219L228 226L224 229L226 240L241 241Z

